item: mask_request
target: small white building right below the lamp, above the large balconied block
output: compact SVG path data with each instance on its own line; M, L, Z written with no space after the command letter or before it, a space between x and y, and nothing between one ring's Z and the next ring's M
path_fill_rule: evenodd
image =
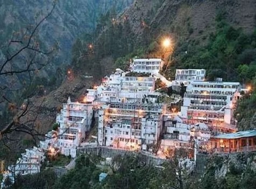
M177 89L182 83L184 86L188 86L191 81L204 81L205 74L204 69L177 69L172 86Z

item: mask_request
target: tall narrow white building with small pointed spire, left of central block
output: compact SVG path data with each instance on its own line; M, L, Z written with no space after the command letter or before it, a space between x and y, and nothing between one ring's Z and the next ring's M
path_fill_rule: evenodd
M93 104L68 102L63 104L63 109L56 118L59 123L59 137L57 147L61 153L76 156L76 148L86 139L93 119Z

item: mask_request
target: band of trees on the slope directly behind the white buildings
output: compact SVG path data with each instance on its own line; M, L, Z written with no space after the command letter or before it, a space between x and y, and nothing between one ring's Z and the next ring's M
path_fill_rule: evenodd
M107 56L115 62L113 68L124 70L134 57L168 56L165 65L168 67L162 69L166 78L174 79L176 69L206 69L209 81L223 78L224 81L239 81L243 87L250 86L250 95L239 102L236 116L240 130L255 127L256 28L251 34L244 33L242 29L232 27L225 16L224 10L218 11L215 32L203 36L206 44L199 40L181 40L176 41L173 51L163 52L163 37L148 36L149 31L138 37L132 32L129 20L117 22L117 14L112 10L99 19L94 35L86 34L77 39L72 65L79 73L89 71L103 77L105 70L101 67L105 62L100 60ZM89 48L91 39L95 41L93 48Z

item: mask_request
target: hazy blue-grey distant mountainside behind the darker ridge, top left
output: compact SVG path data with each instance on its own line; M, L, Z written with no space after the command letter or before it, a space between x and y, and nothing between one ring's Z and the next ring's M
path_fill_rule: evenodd
M122 12L133 0L89 0L55 1L56 7L39 28L38 41L46 49L58 43L59 51L44 75L48 76L58 67L65 67L71 61L71 49L75 39L82 33L92 32L99 15L115 7ZM53 0L0 0L0 59L6 55L6 47L13 32L34 26L49 10ZM19 78L18 78L19 79ZM1 78L0 78L1 80Z

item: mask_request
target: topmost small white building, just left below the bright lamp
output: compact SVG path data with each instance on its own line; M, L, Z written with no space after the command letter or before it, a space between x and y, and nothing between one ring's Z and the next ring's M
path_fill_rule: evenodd
M161 58L134 59L130 65L132 72L158 74L163 66Z

